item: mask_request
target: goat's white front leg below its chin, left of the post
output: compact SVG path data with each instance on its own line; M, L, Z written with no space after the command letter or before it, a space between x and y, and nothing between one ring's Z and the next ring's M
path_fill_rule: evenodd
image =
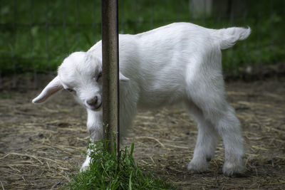
M103 116L102 116L102 108L98 111L92 111L87 109L87 129L90 133L90 141L98 141L103 137ZM86 157L86 161L82 164L81 171L86 171L89 169L89 164L91 158L89 157L90 149L88 149L88 154Z

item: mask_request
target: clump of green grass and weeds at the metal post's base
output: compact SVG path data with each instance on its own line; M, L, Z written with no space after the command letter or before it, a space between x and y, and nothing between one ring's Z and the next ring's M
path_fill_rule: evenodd
M121 150L119 156L115 150L108 152L103 141L89 142L88 149L90 169L72 176L66 189L176 189L138 166L133 159L134 144Z

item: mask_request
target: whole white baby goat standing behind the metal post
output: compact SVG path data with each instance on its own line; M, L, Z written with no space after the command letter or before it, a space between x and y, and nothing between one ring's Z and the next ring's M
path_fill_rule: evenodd
M120 35L120 134L131 125L137 107L157 108L182 103L198 124L198 137L188 169L205 171L214 157L218 135L225 149L223 172L244 172L240 123L227 103L221 49L250 34L250 28L203 28L172 23L137 35ZM66 89L87 108L92 141L102 138L101 41L87 52L68 56L33 103ZM82 169L88 168L87 157Z

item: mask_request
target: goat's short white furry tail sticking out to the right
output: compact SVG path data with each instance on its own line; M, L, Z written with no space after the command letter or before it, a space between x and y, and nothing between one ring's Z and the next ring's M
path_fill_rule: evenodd
M219 48L221 48L222 50L234 46L237 41L242 41L246 39L251 33L251 29L249 27L232 27L222 28L219 30L211 29L211 31L215 40L219 43Z

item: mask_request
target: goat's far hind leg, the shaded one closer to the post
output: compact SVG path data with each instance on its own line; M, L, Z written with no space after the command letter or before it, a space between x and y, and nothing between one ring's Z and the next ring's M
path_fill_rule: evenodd
M214 157L218 133L211 122L204 119L199 108L187 107L187 110L195 117L198 125L197 142L192 160L188 164L187 169L198 172L206 171L209 161Z

